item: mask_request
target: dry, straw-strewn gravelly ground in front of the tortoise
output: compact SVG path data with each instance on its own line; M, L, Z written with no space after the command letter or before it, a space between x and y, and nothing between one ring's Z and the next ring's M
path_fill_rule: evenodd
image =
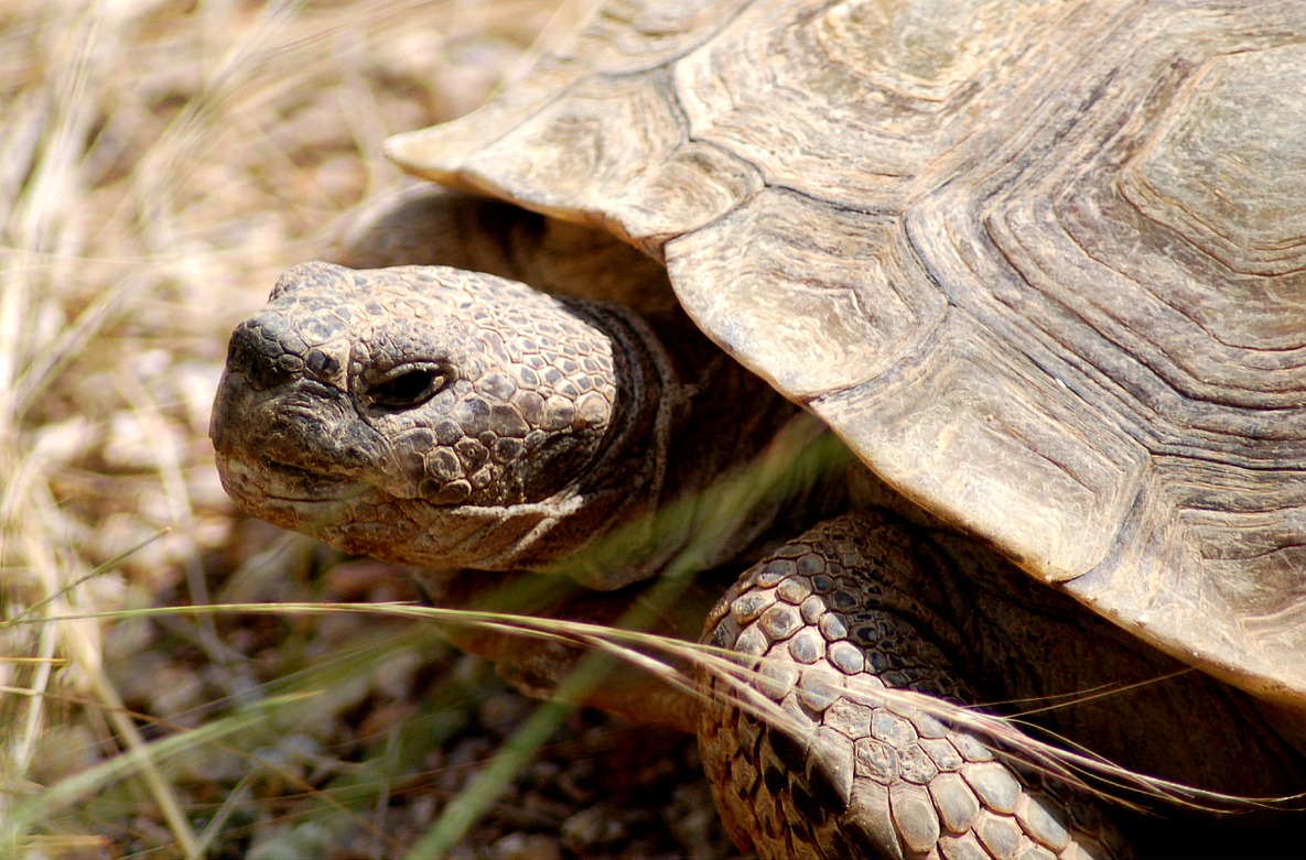
M415 598L235 515L226 338L580 5L0 0L0 856L397 857L477 803L452 856L731 851L692 743L590 713L469 788L535 705L421 624L154 612Z

